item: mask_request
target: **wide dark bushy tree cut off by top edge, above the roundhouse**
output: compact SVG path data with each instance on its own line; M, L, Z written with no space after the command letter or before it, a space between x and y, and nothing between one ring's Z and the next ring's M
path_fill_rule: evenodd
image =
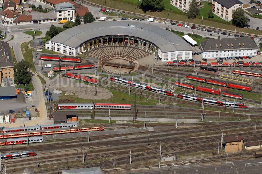
M137 6L144 12L161 12L165 9L163 0L142 0L142 2L138 3Z

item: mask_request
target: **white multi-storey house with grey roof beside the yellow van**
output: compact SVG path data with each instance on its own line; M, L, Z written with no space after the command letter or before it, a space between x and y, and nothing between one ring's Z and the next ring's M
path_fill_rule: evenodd
M66 19L70 21L75 19L75 7L70 2L64 2L54 5L56 7L58 21Z

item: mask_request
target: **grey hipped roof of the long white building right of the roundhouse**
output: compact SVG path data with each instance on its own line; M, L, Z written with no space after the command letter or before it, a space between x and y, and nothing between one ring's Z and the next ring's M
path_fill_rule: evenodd
M200 43L200 48L203 51L222 51L247 50L250 48L257 49L258 46L256 45L255 41L251 39L251 37L236 37L223 39L208 39Z

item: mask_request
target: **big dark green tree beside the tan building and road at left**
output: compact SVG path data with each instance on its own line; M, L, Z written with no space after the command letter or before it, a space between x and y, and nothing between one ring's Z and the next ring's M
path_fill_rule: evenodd
M30 63L25 60L21 60L14 66L15 83L23 85L30 83L32 79L32 73L28 70L30 67Z

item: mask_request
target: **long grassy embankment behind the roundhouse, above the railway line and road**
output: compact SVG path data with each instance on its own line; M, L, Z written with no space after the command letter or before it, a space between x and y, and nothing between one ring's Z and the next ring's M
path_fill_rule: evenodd
M89 0L89 1L92 2L92 3L100 4L102 6L105 5L104 0ZM176 7L174 7L173 5L171 5L169 0L164 0L164 4L165 4L165 10L162 11L162 12L150 12L150 11L148 11L148 12L144 13L141 9L136 7L136 13L140 13L140 14L144 14L144 15L151 15L151 16L161 17L161 18L167 19L168 9L169 9L168 18L170 20L178 20L178 21L185 21L185 22L194 23L194 24L201 24L201 18L202 18L201 16L197 16L197 18L195 18L195 19L188 19L187 15L184 12L177 9ZM119 9L119 10L134 12L135 0L107 0L106 6L111 7L111 8L115 8L115 9ZM205 13L205 11L206 10L204 10L202 13ZM106 13L105 13L105 15L106 15ZM203 25L234 31L235 26L233 26L232 24L230 24L230 25L229 24L230 23L228 23L226 21L221 21L221 20L203 17ZM252 30L252 29L248 29L248 28L237 27L237 31L238 32L251 33L251 34L260 34L260 35L262 34L261 31Z

